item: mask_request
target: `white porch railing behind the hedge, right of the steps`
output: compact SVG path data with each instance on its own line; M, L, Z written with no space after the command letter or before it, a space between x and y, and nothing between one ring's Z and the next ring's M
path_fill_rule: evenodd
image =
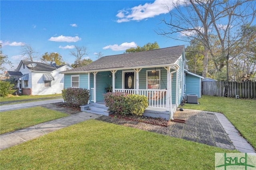
M114 92L145 95L148 97L148 107L166 108L166 89L114 89Z

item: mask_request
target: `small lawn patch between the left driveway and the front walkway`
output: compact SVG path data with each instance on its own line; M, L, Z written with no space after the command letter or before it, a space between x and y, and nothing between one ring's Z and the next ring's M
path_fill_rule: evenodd
M68 116L66 113L53 111L44 107L32 107L0 113L0 134L12 132L25 127L37 125Z

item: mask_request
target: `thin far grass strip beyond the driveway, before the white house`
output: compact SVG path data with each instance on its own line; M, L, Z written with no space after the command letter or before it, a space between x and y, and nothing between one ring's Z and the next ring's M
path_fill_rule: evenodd
M54 94L54 95L20 95L15 96L11 95L10 97L1 97L0 102L4 101L18 101L18 100L27 100L27 99L39 99L45 97L62 97L62 94Z

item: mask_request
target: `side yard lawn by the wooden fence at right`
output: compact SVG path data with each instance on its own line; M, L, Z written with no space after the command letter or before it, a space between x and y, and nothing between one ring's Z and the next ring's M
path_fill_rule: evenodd
M256 148L256 100L202 96L199 105L185 104L185 109L196 109L223 113Z

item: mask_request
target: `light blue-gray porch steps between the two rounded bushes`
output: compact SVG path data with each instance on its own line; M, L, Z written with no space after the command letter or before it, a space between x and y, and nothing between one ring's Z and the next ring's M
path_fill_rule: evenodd
M98 115L109 116L113 113L113 112L108 111L108 107L106 107L103 104L98 104L98 103L90 103L88 105L83 105L80 107L81 107L81 111L88 112L88 113L95 113Z

